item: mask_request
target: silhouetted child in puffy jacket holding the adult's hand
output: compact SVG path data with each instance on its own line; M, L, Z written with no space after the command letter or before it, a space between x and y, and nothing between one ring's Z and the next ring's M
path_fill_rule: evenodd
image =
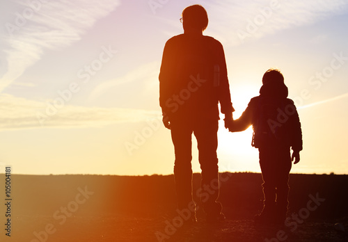
M252 145L259 150L264 193L264 207L255 223L283 224L292 161L299 162L302 150L301 123L294 102L287 98L283 74L267 70L262 84L260 95L251 99L239 119L229 122L228 129L244 131L253 125Z

